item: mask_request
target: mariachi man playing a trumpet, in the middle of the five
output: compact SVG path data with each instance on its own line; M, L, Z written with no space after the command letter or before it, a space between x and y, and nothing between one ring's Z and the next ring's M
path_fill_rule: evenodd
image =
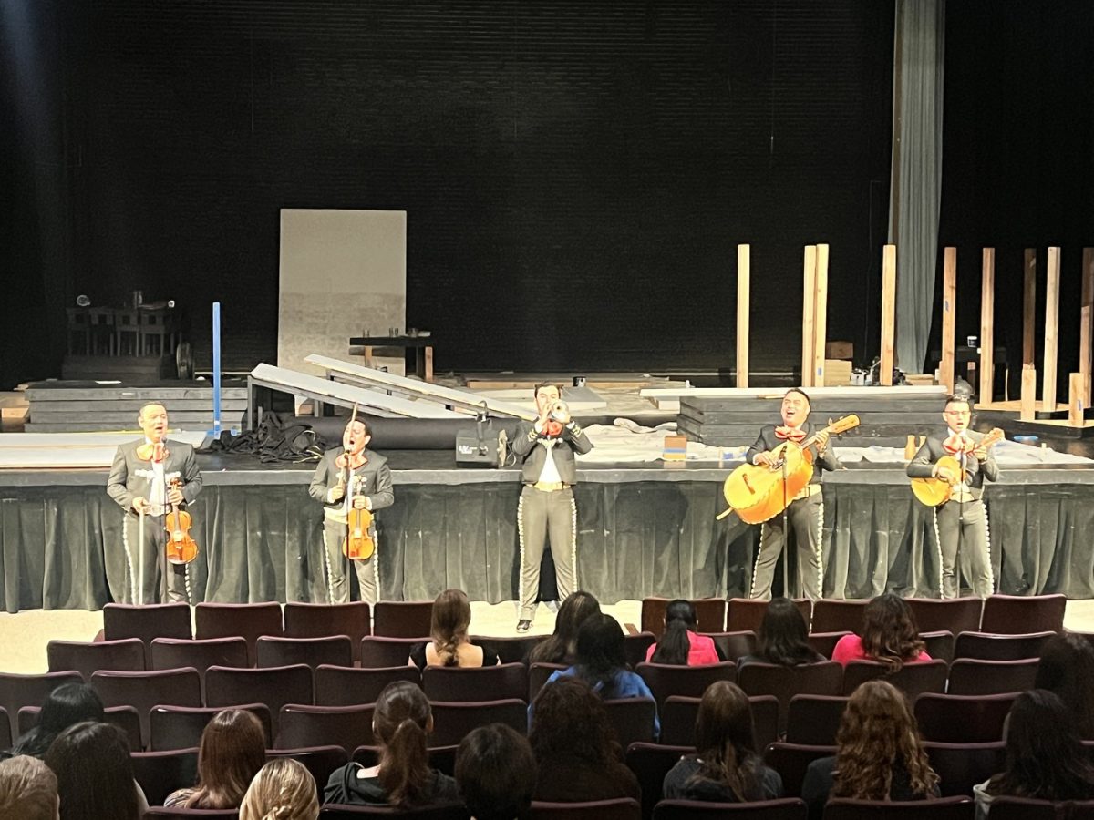
M535 387L539 418L521 422L513 435L513 453L524 459L524 489L516 506L516 530L521 541L521 611L516 631L527 632L536 612L539 564L550 536L559 602L578 587L578 505L573 484L578 480L575 453L593 448L585 431L561 400L558 385Z

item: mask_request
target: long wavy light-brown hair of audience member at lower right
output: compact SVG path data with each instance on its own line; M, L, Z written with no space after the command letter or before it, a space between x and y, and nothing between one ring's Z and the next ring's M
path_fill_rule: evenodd
M911 790L918 795L929 796L938 785L908 701L888 681L866 681L854 690L836 746L833 797L886 800L897 768L907 771Z

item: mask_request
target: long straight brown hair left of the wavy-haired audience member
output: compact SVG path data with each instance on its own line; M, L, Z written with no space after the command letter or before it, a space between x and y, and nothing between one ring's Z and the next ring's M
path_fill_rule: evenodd
M720 680L702 693L695 718L695 751L700 762L690 783L714 781L742 803L764 799L752 707L736 683Z

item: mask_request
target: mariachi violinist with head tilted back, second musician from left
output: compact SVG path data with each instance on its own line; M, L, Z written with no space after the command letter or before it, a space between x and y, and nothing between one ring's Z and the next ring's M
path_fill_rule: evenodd
M342 446L323 454L309 488L311 496L323 503L323 551L331 604L349 600L347 559L342 554L342 543L349 532L349 507L376 511L395 503L387 459L365 449L370 441L372 436L365 423L358 419L350 421L342 432ZM361 599L372 605L380 595L380 542L375 522L369 535L375 543L372 555L354 560L353 564L361 586Z

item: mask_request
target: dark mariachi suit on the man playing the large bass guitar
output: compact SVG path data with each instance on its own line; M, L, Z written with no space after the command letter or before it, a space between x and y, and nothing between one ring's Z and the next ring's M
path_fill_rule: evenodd
M745 460L748 464L755 464L758 454L773 450L783 444L785 440L779 438L775 434L775 424L767 424L760 430L759 438L745 455ZM801 430L808 437L814 427L806 421L801 425ZM798 544L798 577L802 590L806 598L816 600L824 589L824 567L821 561L824 499L821 493L821 472L839 469L839 459L836 458L830 445L825 448L824 453L818 453L816 445L811 446L810 449L813 452L813 478L810 479L810 483L802 494L790 502L787 507L787 520L794 534L794 542ZM756 566L753 570L750 597L770 599L775 565L779 560L784 540L782 514L780 513L765 522L760 530L759 551L756 553ZM789 555L787 558L789 559ZM783 594L788 598L793 597L790 590L783 590Z

